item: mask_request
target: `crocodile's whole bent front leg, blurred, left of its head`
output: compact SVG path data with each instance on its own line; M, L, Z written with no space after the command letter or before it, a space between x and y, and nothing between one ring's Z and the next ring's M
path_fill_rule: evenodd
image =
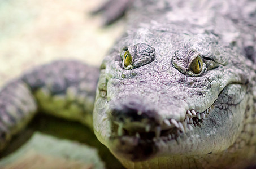
M80 121L92 128L98 68L79 61L55 61L25 73L0 92L0 149L37 112Z

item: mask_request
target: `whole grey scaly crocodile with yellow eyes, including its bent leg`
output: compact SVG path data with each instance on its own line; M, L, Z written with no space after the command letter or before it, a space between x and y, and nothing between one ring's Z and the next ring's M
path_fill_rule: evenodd
M36 112L80 121L126 168L256 165L255 1L115 1L100 69L55 61L0 92L0 149Z

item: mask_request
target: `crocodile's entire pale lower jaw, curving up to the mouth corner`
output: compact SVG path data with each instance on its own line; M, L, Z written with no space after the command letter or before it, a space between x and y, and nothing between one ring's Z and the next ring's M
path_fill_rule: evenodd
M116 126L113 125L112 119L107 115L112 113L111 109L113 107L111 108L111 105L109 106L106 103L102 112L97 112L94 109L94 122L97 122L94 123L94 131L98 139L120 161L130 161L129 163L132 161L135 163L138 161L154 161L157 158L161 159L164 157L178 158L182 155L195 157L209 153L219 153L231 146L242 130L240 123L244 119L244 111L248 98L242 97L237 100L237 104L235 105L226 104L227 108L219 108L219 101L223 100L227 92L236 93L238 91L242 91L242 94L245 95L246 87L236 84L226 87L214 104L212 104L211 110L209 110L205 120L199 123L201 127L198 124L187 124L185 132L176 127L177 133L173 137L164 135L162 132L160 132L161 134L159 136L157 134L152 136L152 133L147 135L145 131L141 133L137 132L138 135L136 132L118 134L118 128L115 128ZM101 101L106 100L102 99ZM224 106L224 104L222 105ZM232 113L227 110L232 110ZM222 121L224 117L225 121ZM172 130L174 130L173 128L175 127L172 127ZM150 138L147 139L147 136L150 136Z

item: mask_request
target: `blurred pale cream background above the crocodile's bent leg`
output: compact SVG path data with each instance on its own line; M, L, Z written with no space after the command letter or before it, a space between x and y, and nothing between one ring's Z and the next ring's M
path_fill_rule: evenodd
M0 86L24 70L57 59L99 65L122 33L123 21L103 28L90 11L99 0L0 1Z

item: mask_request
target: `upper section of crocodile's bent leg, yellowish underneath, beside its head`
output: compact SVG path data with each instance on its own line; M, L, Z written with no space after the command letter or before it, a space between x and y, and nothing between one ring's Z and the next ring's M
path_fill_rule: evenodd
M92 128L92 112L99 68L63 60L39 66L24 75L38 104L38 111Z

